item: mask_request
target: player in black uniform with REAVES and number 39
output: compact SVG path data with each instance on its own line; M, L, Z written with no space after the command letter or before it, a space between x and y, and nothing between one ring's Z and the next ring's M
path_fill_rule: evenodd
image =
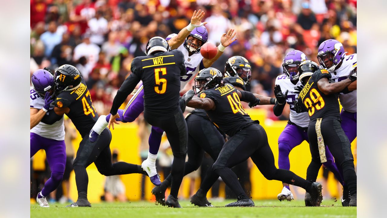
M296 112L307 111L310 118L308 138L312 162L307 171L307 180L315 181L320 166L326 161L325 145L332 153L337 167L343 172L344 190L348 187L350 200L348 206L356 206L356 172L353 164L351 143L341 128L340 108L337 93L342 92L350 83L356 80L356 72L349 78L337 83L331 83L331 74L325 69L319 69L313 61L304 61L298 66L300 81L305 86L294 102ZM343 197L343 200L344 197ZM305 195L305 204L310 204ZM344 204L343 204L344 206Z

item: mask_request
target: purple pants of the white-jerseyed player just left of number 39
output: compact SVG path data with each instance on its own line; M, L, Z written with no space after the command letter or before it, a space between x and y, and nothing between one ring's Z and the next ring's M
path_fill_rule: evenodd
M289 153L304 140L309 143L308 131L301 130L297 126L291 124L285 126L284 131L282 131L278 138L278 168L284 170L290 169ZM336 176L340 183L342 183L342 175L337 169L333 156L327 146L325 146L325 156L327 157L327 162L323 163L324 166Z

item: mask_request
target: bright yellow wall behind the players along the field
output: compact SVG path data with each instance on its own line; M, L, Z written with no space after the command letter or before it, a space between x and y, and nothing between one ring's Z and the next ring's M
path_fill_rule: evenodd
M264 126L267 137L269 138L269 144L274 154L275 164L278 167L278 137L281 131L286 126L287 121L266 121L266 111L261 109L249 109L247 110L252 119L258 119L262 126ZM141 164L141 159L139 156L139 137L137 136L137 124L136 123L122 123L121 125L115 125L115 130L112 130L112 141L110 144L110 149L118 149L119 151L119 160L125 161L133 164ZM74 140L74 149L77 151L79 142L81 138L78 135L77 139ZM165 140L165 138L163 138ZM356 149L356 139L352 145L353 150ZM356 155L355 164L356 164ZM34 157L35 161L41 161L41 158L44 158L44 155L38 155ZM295 147L289 155L290 159L290 170L296 173L297 175L305 178L308 164L311 160L311 155L309 151L309 145L307 142L303 142L301 145ZM40 162L41 163L41 162ZM39 164L40 165L40 164ZM89 186L88 186L88 197L90 202L99 202L100 196L103 194L103 185L105 176L99 174L96 166L91 164L87 168L87 173L89 175ZM318 180L321 180L321 172L319 173ZM127 198L131 201L137 201L140 199L140 179L141 175L132 174L132 175L122 175L121 176L123 183L126 188ZM276 199L277 194L282 190L282 183L279 181L269 181L262 176L257 167L254 165L250 173L251 183L252 183L252 197L254 199ZM162 178L163 179L163 178ZM195 187L199 188L200 180L196 180ZM181 190L184 193L186 198L189 197L189 179L184 178L183 180L183 189ZM70 197L74 200L77 199L77 189L75 185L75 176L74 171L70 176ZM146 179L146 190L145 190L145 199L152 200L154 197L151 195L151 189L153 185ZM305 191L303 189L298 189L294 186L291 186L295 198L303 198ZM328 180L328 188L324 189L330 190L330 193L333 196L337 196L337 183L334 181L333 176L330 175ZM220 193L221 196L224 196L224 193Z

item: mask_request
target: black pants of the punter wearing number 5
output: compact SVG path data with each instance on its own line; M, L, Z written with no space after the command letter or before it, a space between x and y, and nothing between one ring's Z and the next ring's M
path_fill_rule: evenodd
M144 110L145 120L152 126L157 126L165 131L173 152L171 169L171 195L178 196L179 188L183 180L185 168L185 156L187 155L187 123L185 122L182 110L167 117L153 116Z

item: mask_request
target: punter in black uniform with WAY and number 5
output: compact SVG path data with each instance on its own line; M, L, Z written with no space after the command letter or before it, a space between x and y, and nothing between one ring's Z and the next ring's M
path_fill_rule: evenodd
M177 196L183 179L188 135L187 123L179 106L179 93L180 76L186 74L186 69L182 52L169 50L163 38L153 37L147 43L147 55L133 59L132 73L113 100L108 126L117 123L116 118L120 117L118 107L141 80L144 86L144 118L150 125L165 131L173 152L171 193L165 204L180 208Z

